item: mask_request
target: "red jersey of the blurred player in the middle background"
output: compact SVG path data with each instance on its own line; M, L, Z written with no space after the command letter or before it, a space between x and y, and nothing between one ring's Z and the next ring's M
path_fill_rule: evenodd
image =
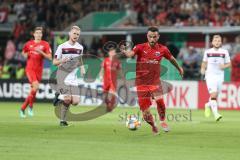
M118 59L110 60L110 58L107 57L104 59L102 67L104 69L104 84L113 83L115 85L118 71L121 69L121 62Z

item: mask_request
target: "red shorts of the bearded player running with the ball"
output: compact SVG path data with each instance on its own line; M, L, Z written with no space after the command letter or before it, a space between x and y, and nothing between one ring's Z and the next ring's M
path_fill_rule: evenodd
M155 96L162 95L162 88L153 85L137 86L138 104L141 111L145 111L152 105L152 99Z

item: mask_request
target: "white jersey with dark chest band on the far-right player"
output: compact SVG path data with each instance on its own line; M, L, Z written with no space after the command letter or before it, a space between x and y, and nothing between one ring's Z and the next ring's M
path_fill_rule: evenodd
M220 69L221 64L229 63L230 56L227 50L210 48L204 52L203 62L207 62L206 76L224 76L224 70Z

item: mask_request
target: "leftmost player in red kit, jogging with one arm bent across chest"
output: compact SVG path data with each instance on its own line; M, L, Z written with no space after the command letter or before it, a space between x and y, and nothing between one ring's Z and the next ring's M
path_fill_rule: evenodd
M29 105L28 115L33 116L33 103L38 91L39 82L42 79L43 59L52 60L52 51L48 42L42 40L43 28L36 27L33 31L34 40L28 41L24 47L22 54L27 58L26 75L31 84L31 91L25 99L21 109L20 117L25 118L25 109Z

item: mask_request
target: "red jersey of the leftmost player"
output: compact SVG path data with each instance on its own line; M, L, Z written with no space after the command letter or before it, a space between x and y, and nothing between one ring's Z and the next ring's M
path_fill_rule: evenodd
M33 70L41 72L43 69L43 55L35 51L36 49L42 50L47 54L51 54L51 48L48 42L40 41L36 43L34 40L28 41L24 47L23 52L27 53L27 66L26 70Z

